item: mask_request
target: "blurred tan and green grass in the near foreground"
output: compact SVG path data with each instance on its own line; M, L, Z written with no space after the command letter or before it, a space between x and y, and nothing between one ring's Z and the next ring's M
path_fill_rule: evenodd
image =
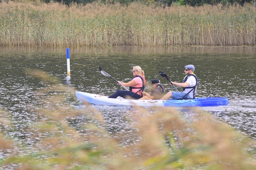
M31 109L39 119L25 129L30 132L27 141L33 142L9 136L15 130L12 117L0 110L0 169L256 169L254 155L249 152L255 151L255 141L225 123L217 123L199 108L191 108L197 114L188 121L175 108L155 108L156 112L149 113L138 107L127 118L137 142L122 146L125 134L111 136L96 109L65 104L67 95L74 95L75 89L42 72L30 73L49 82L48 87L37 91L44 101L37 101L41 109ZM45 108L49 103L52 107ZM81 125L86 134L68 123L78 115L87 117L88 122Z

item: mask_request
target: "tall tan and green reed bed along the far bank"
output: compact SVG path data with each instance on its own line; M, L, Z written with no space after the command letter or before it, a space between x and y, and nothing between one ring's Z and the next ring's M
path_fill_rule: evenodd
M256 45L256 10L94 2L1 2L1 46Z

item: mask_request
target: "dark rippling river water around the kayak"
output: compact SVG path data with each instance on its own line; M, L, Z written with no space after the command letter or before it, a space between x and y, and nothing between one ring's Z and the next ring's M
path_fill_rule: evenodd
M196 68L194 73L201 81L197 97L229 98L228 106L201 109L256 139L256 47L87 47L69 50L70 77L66 75L66 48L0 47L0 108L8 113L2 114L0 119L8 118L16 127L6 130L0 126L5 135L14 139L18 137L24 140L23 143L33 142L29 140L29 134L24 134L24 129L30 122L41 118L34 111L53 107L46 96L42 98L38 94L56 82L55 78L59 79L57 84L73 88L71 94L79 90L111 95L121 87L100 74L98 67L101 66L115 79L126 82L132 78L132 67L139 65L147 81L158 78L169 91L174 89L159 75L159 71L165 72L171 81L181 82L184 66L193 64ZM33 77L30 69L47 73L51 76L50 81ZM74 96L65 95L67 99L63 107L84 108ZM102 113L113 136L126 131L127 121L123 117L133 108L95 107ZM180 110L190 114L187 109ZM82 123L83 119L75 120L75 123ZM124 141L123 145L126 143Z

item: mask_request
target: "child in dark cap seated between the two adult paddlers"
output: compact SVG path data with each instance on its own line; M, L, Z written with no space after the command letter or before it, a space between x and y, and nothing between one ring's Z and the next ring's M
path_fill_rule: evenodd
M151 93L148 94L145 91L142 92L143 97L139 100L159 100L162 98L164 94L164 87L160 85L159 79L151 80L151 84L153 85L153 88L151 90Z

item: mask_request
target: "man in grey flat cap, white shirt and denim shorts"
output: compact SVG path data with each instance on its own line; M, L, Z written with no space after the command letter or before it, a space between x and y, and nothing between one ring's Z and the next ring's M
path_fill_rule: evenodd
M182 83L172 82L171 85L177 85L182 87L183 92L169 91L164 97L160 100L168 100L169 98L173 98L174 100L179 99L192 99L194 97L194 90L197 84L197 77L194 74L194 66L192 64L185 66L185 78Z

